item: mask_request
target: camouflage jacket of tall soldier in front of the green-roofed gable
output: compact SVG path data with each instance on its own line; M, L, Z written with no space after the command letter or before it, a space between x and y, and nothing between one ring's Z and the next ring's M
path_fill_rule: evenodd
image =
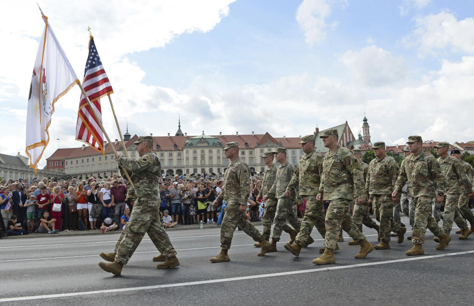
M343 198L365 198L364 178L354 154L341 146L322 159L322 179L318 195L326 201Z

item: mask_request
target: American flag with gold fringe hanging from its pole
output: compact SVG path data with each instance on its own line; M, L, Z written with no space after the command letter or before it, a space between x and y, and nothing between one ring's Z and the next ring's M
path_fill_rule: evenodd
M84 79L82 86L91 104L94 107L99 119L102 122L102 112L100 108L100 98L110 95L114 91L105 73L99 53L95 47L94 38L89 40L89 54L85 62ZM104 135L100 129L90 106L84 95L80 95L78 122L76 125L76 140L89 144L95 150L104 152Z

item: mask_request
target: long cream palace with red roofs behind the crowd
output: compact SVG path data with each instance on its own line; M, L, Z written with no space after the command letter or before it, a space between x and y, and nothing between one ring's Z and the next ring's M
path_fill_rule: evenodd
M351 146L357 142L347 121L335 126L339 132L339 144ZM319 129L313 132L316 136L316 150L327 151L321 139L318 137ZM175 174L185 177L198 177L207 173L211 176L222 176L229 159L224 155L222 149L227 142L237 141L239 144L240 159L248 164L250 172L263 173L265 164L262 154L274 151L276 148L285 148L286 157L289 162L296 164L304 155L299 144L299 137L274 137L268 132L265 134L236 134L207 135L202 131L201 135L188 136L181 131L181 124L178 123L178 131L171 136L153 136L153 151L157 153L161 163L162 173L166 176ZM138 138L127 132L123 135L126 151L131 158L138 158L133 142ZM369 136L370 137L370 136ZM364 143L359 139L359 143ZM105 155L95 151L91 147L82 145L79 148L58 149L51 156L46 158L46 169L65 175L69 178L85 179L89 176L97 178L107 178L118 171L118 165L112 150L112 146L119 153L123 153L121 142L117 139L113 143L105 144Z

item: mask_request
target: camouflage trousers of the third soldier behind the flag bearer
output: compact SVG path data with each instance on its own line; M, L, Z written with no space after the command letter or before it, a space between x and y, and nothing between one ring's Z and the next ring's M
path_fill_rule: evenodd
M293 197L282 195L278 199L275 218L273 219L272 240L280 240L281 232L288 227L286 221L297 231L300 230L301 222L295 215L295 210L293 209L294 203L295 199Z

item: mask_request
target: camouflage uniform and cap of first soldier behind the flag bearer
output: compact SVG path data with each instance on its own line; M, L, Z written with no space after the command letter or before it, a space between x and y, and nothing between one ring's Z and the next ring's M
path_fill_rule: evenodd
M230 144L233 146L233 143ZM238 148L238 144L236 148ZM240 205L247 205L249 193L248 166L240 158L237 158L227 167L224 174L224 187L216 199L219 202L222 202L222 200L227 202L227 211L221 225L221 249L223 250L231 248L232 237L237 226L251 236L253 240L258 242L263 240L260 232L245 217L245 212L239 210Z

